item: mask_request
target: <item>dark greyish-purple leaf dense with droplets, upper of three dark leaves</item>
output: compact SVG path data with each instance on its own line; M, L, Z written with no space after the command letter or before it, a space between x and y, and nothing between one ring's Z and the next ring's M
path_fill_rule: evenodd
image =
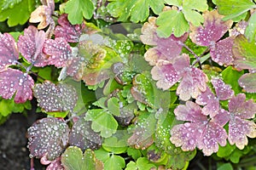
M73 86L64 83L56 86L45 81L43 84L37 84L33 91L38 99L38 105L46 112L72 111L78 99Z

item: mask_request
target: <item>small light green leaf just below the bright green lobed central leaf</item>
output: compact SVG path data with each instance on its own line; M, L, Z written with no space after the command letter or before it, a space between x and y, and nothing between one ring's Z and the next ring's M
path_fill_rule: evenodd
M127 144L124 139L117 139L116 137L110 137L104 140L102 148L114 154L125 153L127 150Z

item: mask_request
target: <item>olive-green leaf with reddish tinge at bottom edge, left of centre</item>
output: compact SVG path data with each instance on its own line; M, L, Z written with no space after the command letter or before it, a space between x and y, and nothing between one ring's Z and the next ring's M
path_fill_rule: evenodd
M67 170L96 170L101 169L103 164L98 161L92 150L85 150L84 154L76 146L69 146L61 156L62 166Z

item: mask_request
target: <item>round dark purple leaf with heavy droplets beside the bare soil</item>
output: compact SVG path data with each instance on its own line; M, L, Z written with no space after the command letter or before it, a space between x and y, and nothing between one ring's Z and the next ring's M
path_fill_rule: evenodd
M27 129L30 156L55 160L68 144L69 128L66 122L48 117L40 119Z

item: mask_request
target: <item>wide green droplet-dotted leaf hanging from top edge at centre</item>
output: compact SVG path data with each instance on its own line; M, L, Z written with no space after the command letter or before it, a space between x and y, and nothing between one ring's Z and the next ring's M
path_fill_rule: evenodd
M128 20L131 16L131 21L137 23L148 18L149 8L154 14L160 14L164 6L164 0L111 0L107 8L119 21Z

